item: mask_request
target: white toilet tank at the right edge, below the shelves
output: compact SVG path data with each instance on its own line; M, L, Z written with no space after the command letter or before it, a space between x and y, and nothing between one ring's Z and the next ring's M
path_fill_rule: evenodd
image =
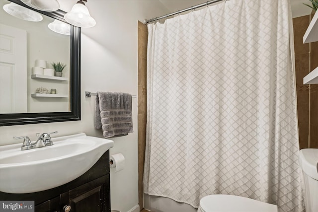
M305 181L306 212L318 212L318 148L301 149L299 164Z

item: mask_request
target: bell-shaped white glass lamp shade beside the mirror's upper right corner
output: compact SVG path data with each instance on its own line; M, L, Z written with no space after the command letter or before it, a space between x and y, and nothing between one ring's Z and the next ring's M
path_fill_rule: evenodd
M74 26L89 28L96 24L94 18L92 18L88 12L87 7L84 2L87 0L79 0L71 9L70 12L64 15L67 22Z

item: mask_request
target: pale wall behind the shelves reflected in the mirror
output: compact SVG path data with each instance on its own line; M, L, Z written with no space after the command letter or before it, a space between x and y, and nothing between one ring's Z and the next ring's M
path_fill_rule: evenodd
M26 21L28 22L28 21ZM53 19L43 15L43 20L40 23L42 30L37 30L35 24L27 26L27 84L28 84L28 112L63 112L69 111L69 98L34 98L31 93L39 87L45 87L49 91L54 88L57 94L69 94L70 82L48 79L33 79L31 78L32 67L35 65L35 60L45 60L46 68L53 69L51 63L61 62L66 64L62 71L62 76L70 78L70 36L58 34L48 28L48 24L53 22Z

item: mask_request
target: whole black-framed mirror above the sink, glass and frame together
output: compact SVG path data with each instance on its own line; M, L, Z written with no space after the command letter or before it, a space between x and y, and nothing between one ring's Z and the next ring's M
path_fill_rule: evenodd
M20 0L0 3L0 126L80 120L80 28L68 25L69 35L51 31L48 23L67 23L60 9L41 11ZM7 4L43 18L13 17L4 11ZM53 63L66 65L62 77L54 75Z

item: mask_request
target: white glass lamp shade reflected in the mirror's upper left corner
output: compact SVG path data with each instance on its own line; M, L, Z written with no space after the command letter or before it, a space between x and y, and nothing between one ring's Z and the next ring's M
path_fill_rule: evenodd
M8 3L3 5L4 11L9 13L10 15L20 18L27 21L41 21L43 19L42 15L38 12L35 12L31 9L26 7L20 6L16 3Z

